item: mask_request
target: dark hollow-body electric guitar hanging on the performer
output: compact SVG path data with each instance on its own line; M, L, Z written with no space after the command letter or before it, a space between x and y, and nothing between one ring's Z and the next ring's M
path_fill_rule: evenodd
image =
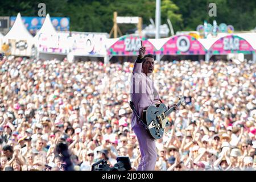
M183 96L179 97L177 106L185 105ZM146 110L143 110L142 121L148 126L148 133L154 139L160 139L163 137L164 129L166 126L170 126L170 122L167 117L174 111L174 106L168 109L163 103L156 106L148 106Z

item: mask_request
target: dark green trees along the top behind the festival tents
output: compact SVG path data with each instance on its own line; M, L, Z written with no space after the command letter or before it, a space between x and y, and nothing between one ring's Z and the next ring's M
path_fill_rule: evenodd
M38 16L38 4L42 1L1 1L0 14L15 16ZM170 18L175 31L196 30L204 20L218 24L233 24L235 30L251 30L256 24L256 1L215 0L217 16L208 15L211 0L162 0L162 24ZM46 13L51 16L68 16L71 31L110 32L113 26L113 12L119 16L141 16L143 24L155 19L154 0L44 0ZM121 24L123 34L134 24Z

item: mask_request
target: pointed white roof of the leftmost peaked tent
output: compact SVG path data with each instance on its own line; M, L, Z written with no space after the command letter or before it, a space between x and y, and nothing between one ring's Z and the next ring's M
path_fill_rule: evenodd
M11 30L5 35L5 39L31 40L33 37L24 26L20 13L11 27Z

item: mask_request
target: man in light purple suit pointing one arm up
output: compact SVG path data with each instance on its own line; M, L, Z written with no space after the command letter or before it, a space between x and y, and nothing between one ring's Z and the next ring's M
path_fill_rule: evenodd
M154 87L154 81L150 78L150 74L154 71L154 56L144 55L145 52L146 48L142 46L134 64L131 80L131 101L140 117L144 109L159 102L158 91ZM177 109L177 105L174 106ZM154 171L157 159L155 140L147 133L134 112L131 118L131 129L137 135L141 151L141 162L137 170Z

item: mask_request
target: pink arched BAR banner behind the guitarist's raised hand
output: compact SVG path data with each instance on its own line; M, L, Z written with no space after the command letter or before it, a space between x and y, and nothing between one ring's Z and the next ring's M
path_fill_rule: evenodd
M142 38L135 35L122 36L117 42L115 42L109 49L108 55L112 56L136 56L139 53L141 47L141 40L144 47L146 47L146 54L156 54L156 49L152 43L146 38Z

